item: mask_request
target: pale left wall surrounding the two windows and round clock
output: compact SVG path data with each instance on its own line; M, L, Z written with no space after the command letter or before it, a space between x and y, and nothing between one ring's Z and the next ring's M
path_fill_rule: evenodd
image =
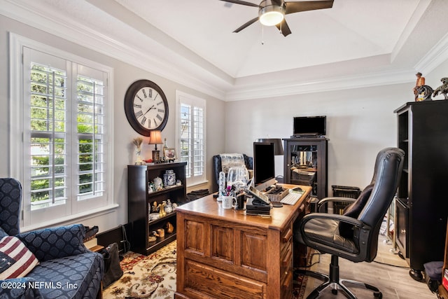
M118 203L120 207L118 209L111 211L110 213L103 214L102 216L97 216L95 218L83 218L73 223L83 223L85 225L99 225L100 231L109 230L115 228L119 224L127 223L127 165L132 164L134 159L134 150L132 146L132 139L139 137L140 135L132 130L132 127L127 123L125 116L123 101L125 97L125 92L129 85L141 78L146 78L148 80L157 83L160 88L165 92L169 104L169 119L165 129L162 131L162 138L167 138L168 146L174 146L175 126L176 126L176 89L182 92L195 95L196 97L202 97L207 100L207 161L211 161L211 156L216 153L221 153L224 148L225 140L224 136L224 110L225 102L214 99L207 95L204 95L190 88L186 88L183 85L168 81L165 78L160 78L151 74L151 72L144 71L137 67L132 67L130 64L125 64L118 60L115 60L106 55L96 53L92 50L78 46L74 43L60 39L51 34L42 32L41 30L29 27L10 18L6 18L0 15L0 177L10 176L9 169L9 139L16 138L15 136L10 136L8 128L8 110L9 101L8 98L8 32L14 32L15 34L20 34L29 39L34 39L41 43L46 43L49 46L65 50L69 53L85 57L89 60L99 62L101 64L106 64L114 69L114 114L113 123L114 131L113 138L115 140L113 145L114 151L114 169L113 169L113 200ZM14 99L11 99L14 100ZM146 137L146 143L148 138ZM144 158L151 158L153 146L144 144L142 155ZM197 186L196 188L211 188L211 180L213 172L211 171L211 162L207 165L209 168L207 179L209 179L209 184L204 186Z

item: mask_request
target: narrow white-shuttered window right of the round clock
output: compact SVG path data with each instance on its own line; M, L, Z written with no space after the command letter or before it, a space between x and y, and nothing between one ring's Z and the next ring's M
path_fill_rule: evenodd
M179 160L186 161L188 186L206 181L205 100L176 91Z

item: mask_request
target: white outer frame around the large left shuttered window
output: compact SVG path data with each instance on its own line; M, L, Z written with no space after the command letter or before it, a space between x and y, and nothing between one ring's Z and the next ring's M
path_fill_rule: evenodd
M79 57L72 53L67 53L63 50L39 43L32 39L27 39L24 36L18 34L9 34L10 41L10 119L9 119L9 138L10 138L10 176L21 181L23 188L22 195L22 218L20 219L21 230L29 230L55 223L63 223L73 221L76 218L88 216L98 213L100 211L106 211L113 207L117 207L117 204L113 202L113 68L104 66L97 62L87 60L86 58ZM45 55L52 55L54 57L60 57L63 60L73 62L78 65L87 66L92 69L97 69L106 73L106 85L104 92L107 96L106 105L106 132L104 132L104 139L106 143L106 188L105 197L101 203L87 204L86 201L78 201L76 204L76 197L69 198L69 204L66 204L64 209L68 209L69 213L64 213L64 216L57 217L55 209L41 209L35 213L33 218L36 221L31 220L31 202L30 202L30 190L27 190L25 186L29 186L29 179L26 179L24 174L25 161L29 157L29 151L25 148L25 134L24 134L24 120L28 117L23 111L25 93L24 93L24 76L23 74L23 60L24 60L24 48L30 48L32 50L40 51ZM71 76L71 74L70 74ZM71 176L71 174L70 174ZM75 202L73 204L73 202ZM70 207L69 207L70 206ZM82 207L85 206L85 207ZM88 207L87 207L88 206ZM39 215L40 214L40 215ZM60 215L60 214L59 214Z

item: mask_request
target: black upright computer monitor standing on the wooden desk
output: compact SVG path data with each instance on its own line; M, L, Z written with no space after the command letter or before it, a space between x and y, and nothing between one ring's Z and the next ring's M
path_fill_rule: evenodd
M260 191L276 183L273 143L253 143L253 183Z

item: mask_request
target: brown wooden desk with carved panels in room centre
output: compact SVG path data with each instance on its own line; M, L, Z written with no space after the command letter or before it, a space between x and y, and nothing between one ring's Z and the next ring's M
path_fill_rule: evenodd
M222 209L212 195L178 207L174 297L291 298L293 223L311 192L300 187L300 200L271 217Z

